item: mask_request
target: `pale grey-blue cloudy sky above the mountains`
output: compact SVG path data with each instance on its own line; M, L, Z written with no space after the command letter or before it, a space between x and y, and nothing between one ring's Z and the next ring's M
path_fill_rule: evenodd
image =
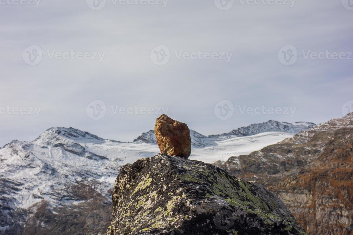
M349 2L350 1L350 2ZM353 2L0 0L0 146L53 126L132 141L353 111Z

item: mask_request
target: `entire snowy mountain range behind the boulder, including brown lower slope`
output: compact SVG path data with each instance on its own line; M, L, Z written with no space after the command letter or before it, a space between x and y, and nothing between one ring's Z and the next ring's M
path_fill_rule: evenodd
M313 125L269 121L214 136L191 130L190 159L225 161ZM0 148L0 234L70 234L55 226L62 223L65 227L73 214L86 229L85 234L102 233L106 224L92 228L86 218L97 210L110 217L110 190L120 166L156 153L159 149L154 131L126 143L74 128L55 127L34 141L6 144Z

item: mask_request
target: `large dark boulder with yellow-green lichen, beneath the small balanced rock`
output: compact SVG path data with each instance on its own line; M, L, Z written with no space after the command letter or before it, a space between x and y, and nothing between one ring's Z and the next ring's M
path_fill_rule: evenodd
M122 166L112 200L108 235L306 234L262 185L167 154Z

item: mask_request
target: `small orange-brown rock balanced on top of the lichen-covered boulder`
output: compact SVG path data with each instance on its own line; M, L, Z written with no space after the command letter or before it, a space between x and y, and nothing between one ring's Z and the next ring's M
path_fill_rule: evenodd
M155 135L161 153L185 158L190 156L190 130L185 123L163 114L156 120Z

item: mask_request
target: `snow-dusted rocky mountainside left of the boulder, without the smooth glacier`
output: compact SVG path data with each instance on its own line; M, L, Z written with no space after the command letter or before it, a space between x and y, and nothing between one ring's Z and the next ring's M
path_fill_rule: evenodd
M0 234L73 234L72 226L86 224L91 211L109 210L109 179L124 161L78 141L104 142L73 128L51 128L32 142L0 149ZM84 231L97 234L104 226Z

